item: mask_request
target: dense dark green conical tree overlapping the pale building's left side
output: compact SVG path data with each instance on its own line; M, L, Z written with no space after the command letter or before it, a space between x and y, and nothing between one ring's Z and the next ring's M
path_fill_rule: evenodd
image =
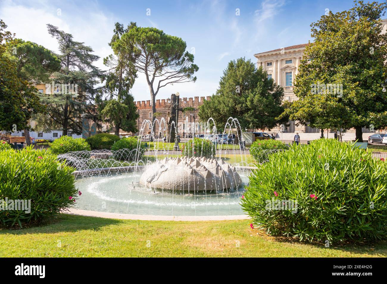
M224 128L229 117L238 119L241 128L273 128L283 112L283 88L277 86L262 68L245 58L228 63L211 100L204 101L199 117L212 117L217 129Z

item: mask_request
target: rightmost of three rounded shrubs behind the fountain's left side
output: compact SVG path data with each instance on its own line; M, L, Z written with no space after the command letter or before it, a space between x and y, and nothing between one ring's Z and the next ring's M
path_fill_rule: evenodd
M121 138L111 146L113 158L116 160L132 161L140 159L144 150L141 141L135 137Z

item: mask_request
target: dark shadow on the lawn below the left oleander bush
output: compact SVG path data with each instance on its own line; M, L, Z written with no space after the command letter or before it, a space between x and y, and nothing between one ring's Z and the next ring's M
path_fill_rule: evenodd
M50 234L60 232L76 232L82 230L99 231L104 226L116 225L123 223L124 220L94 218L61 213L52 217L45 223L34 225L26 224L23 228L15 226L12 228L0 227L0 238L4 234L26 235L26 234ZM126 221L126 220L125 220Z

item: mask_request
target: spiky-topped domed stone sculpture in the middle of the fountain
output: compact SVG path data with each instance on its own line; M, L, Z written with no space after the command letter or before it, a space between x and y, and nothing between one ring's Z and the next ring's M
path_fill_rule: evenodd
M242 183L234 167L215 158L164 158L145 168L140 184L184 191L235 189Z

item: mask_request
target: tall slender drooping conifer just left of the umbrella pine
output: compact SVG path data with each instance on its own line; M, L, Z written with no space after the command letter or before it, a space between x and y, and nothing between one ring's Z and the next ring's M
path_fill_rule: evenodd
M132 22L124 29L123 25L117 22L109 45L112 46L134 25ZM119 135L120 129L136 132L136 120L139 115L134 104L134 98L130 93L135 78L137 78L134 64L130 61L125 61L120 54L111 54L104 58L104 65L109 67L108 72L104 75L104 80L106 81L104 91L108 93L110 100L100 101L102 117L106 121L114 123L115 135Z

